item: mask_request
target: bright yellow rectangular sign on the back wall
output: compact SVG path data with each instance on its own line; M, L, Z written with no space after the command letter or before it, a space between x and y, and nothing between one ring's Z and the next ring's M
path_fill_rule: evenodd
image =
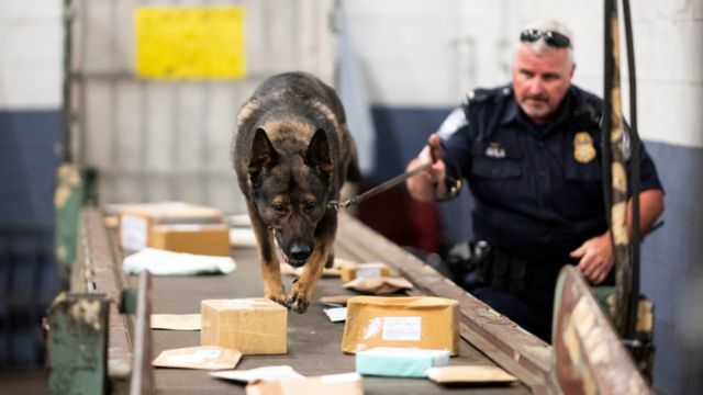
M140 7L134 26L140 77L244 77L243 7Z

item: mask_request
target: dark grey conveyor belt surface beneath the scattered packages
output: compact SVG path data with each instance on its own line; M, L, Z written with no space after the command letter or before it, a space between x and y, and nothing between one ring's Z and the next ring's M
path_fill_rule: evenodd
M341 238L344 237L344 227L358 224L356 219L348 217L342 222ZM92 222L102 225L102 222ZM356 226L361 226L360 224ZM358 228L354 228L358 233ZM365 229L368 229L364 227ZM94 229L93 229L94 230ZM369 232L369 230L366 230ZM92 233L93 235L96 233ZM369 234L371 235L371 234ZM375 235L375 234L373 234ZM372 237L380 237L373 236ZM368 235L367 235L368 237ZM338 238L338 241L342 241ZM384 239L383 239L384 240ZM111 241L115 242L112 235ZM349 240L347 240L349 241ZM388 242L388 241L384 241ZM355 245L355 242L338 242L336 255L349 260L371 259L373 244ZM383 247L387 249L388 247ZM398 247L393 247L398 249ZM358 251L365 256L359 256ZM402 251L398 249L399 251ZM379 260L384 252L376 256ZM115 253L119 256L119 253ZM152 311L155 314L192 314L200 312L200 301L207 298L238 298L256 297L263 295L263 283L256 250L237 248L233 249L233 257L238 267L227 275L211 276L154 276L152 284ZM115 260L119 260L115 259ZM389 262L392 263L392 262ZM118 264L113 262L113 264ZM127 278L130 286L137 287L137 276ZM287 287L290 287L292 278L284 276ZM345 373L354 371L355 357L344 354L341 351L341 340L344 330L343 323L331 323L323 312L319 300L325 295L352 294L341 286L339 279L322 279L313 296L313 302L305 314L289 313L288 323L288 354L284 356L244 356L237 369L253 369L265 365L288 364L306 376ZM131 329L130 329L131 330ZM462 324L462 331L467 327ZM167 331L152 330L152 352L156 357L167 349L192 347L200 345L199 331ZM462 337L465 337L462 332ZM489 345L490 346L490 345ZM495 363L481 351L462 339L460 354L451 358L450 364L486 364ZM244 394L243 385L220 381L208 374L207 371L181 369L155 369L154 383L160 394ZM507 386L471 386L471 387L445 387L422 379L389 379L364 377L366 394L444 394L444 393L471 393L471 394L524 394L529 393L525 383L516 383ZM529 385L534 390L534 385Z

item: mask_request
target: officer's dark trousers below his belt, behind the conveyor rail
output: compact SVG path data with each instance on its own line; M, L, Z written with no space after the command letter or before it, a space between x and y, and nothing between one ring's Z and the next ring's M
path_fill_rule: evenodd
M553 286L526 286L521 292L479 286L469 292L525 330L546 342L551 342Z

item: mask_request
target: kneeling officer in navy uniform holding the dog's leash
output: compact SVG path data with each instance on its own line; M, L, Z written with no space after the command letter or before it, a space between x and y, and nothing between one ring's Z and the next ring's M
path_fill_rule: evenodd
M408 166L435 160L406 181L420 201L446 199L455 179L468 180L473 236L491 252L481 281L455 281L546 341L559 269L576 264L600 284L613 268L600 158L603 102L571 84L574 68L566 26L529 25L520 35L512 83L470 92ZM644 234L663 211L663 192L644 147L639 166Z

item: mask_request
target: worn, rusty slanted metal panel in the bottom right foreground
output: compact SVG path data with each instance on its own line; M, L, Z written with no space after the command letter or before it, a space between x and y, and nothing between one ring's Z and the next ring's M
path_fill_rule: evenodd
M650 394L576 268L567 266L561 270L556 294L556 380L563 393Z

